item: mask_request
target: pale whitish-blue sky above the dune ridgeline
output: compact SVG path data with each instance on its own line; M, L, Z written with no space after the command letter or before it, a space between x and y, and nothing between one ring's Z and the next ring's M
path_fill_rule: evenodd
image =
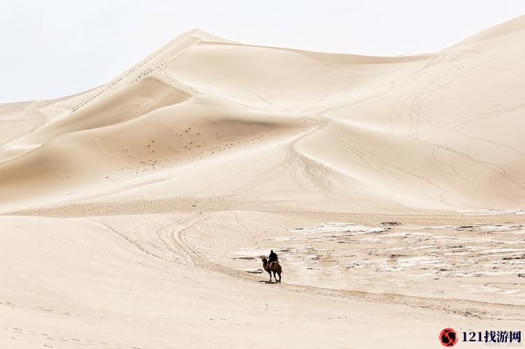
M524 0L0 0L0 102L99 86L185 31L381 56L443 50L525 14Z

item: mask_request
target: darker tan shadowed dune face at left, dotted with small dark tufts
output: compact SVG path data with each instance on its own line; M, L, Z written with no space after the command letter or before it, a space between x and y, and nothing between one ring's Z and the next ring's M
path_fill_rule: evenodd
M304 127L294 117L194 98L118 124L64 133L3 163L0 191L11 207L35 198L60 200L108 191L122 181L222 153L250 151L266 138L294 135Z

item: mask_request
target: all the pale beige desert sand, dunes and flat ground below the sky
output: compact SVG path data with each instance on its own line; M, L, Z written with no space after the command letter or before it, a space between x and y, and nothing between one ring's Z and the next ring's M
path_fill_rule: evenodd
M0 347L524 330L524 40L525 17L413 57L195 29L101 87L0 105Z

